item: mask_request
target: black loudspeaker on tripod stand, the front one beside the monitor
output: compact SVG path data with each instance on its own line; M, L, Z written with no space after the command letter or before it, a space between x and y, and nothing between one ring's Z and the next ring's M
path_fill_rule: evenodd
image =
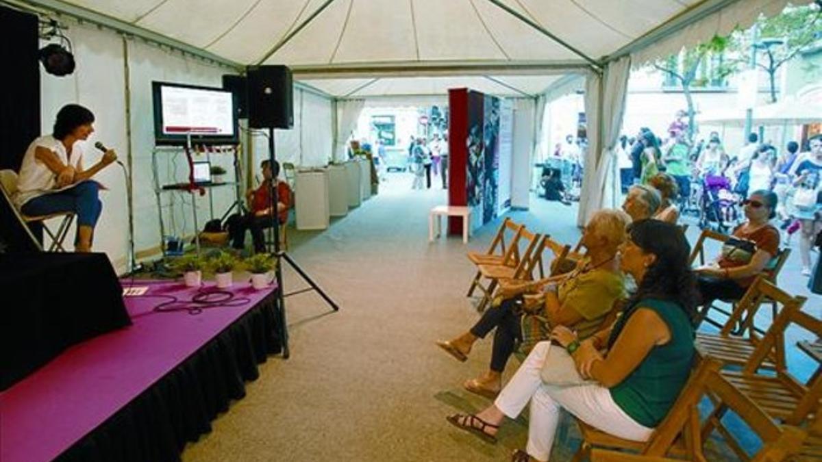
M294 96L291 69L286 66L248 67L248 127L291 128Z

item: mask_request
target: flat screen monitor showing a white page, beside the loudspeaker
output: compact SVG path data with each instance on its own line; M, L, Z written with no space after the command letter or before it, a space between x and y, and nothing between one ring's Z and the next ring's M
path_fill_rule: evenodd
M229 90L171 82L151 82L155 144L236 145L237 101Z

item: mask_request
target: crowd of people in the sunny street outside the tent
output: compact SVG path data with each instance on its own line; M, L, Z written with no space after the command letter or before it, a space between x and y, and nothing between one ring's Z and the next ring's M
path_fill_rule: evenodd
M700 225L722 232L738 224L738 205L750 192L774 192L774 218L787 243L800 231L802 275L809 276L813 238L822 230L822 135L811 136L804 146L790 141L779 149L751 133L745 146L729 153L717 132L693 145L673 125L668 134L662 141L642 128L635 137L621 136L617 156L623 191L635 183L651 184L681 213L694 213ZM660 182L658 173L666 173L675 188Z

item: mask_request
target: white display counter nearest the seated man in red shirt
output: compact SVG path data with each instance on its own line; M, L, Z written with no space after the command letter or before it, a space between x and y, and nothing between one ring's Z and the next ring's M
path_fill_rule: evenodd
M297 229L328 228L328 172L325 169L298 170L294 183Z

